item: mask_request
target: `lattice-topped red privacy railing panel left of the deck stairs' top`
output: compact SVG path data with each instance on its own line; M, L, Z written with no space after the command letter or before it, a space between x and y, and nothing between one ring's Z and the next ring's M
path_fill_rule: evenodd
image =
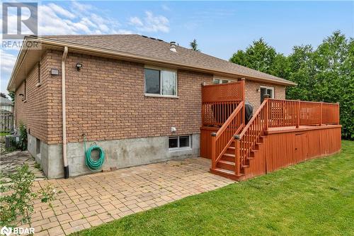
M244 80L202 86L202 125L222 126L244 101Z

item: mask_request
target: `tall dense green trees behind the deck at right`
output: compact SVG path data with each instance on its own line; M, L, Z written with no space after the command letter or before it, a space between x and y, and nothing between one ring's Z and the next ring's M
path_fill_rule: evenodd
M295 46L288 56L264 40L237 51L230 62L296 82L287 87L287 99L340 103L342 136L354 139L354 40L340 31L312 45Z

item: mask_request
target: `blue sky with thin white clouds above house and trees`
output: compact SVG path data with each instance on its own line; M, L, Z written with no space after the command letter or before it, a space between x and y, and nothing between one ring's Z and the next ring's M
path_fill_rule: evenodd
M12 20L9 13L9 26ZM40 35L137 33L183 47L196 39L202 52L224 60L259 38L289 55L293 46L316 47L335 30L354 38L354 1L38 2ZM6 92L19 50L2 44L0 50Z

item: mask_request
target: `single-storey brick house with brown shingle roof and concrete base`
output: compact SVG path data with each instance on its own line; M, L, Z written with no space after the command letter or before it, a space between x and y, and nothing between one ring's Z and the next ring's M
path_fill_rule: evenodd
M16 125L49 178L90 173L84 136L103 169L200 155L201 86L246 79L254 110L293 82L142 35L26 37L8 83ZM63 109L64 108L64 109ZM64 129L63 129L64 127ZM64 137L64 138L63 138ZM63 154L64 150L64 154Z

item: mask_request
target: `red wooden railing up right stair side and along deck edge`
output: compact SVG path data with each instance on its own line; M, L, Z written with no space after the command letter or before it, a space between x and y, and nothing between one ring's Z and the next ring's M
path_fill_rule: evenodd
M236 174L268 128L329 124L339 124L339 103L265 99L244 130L235 135Z

